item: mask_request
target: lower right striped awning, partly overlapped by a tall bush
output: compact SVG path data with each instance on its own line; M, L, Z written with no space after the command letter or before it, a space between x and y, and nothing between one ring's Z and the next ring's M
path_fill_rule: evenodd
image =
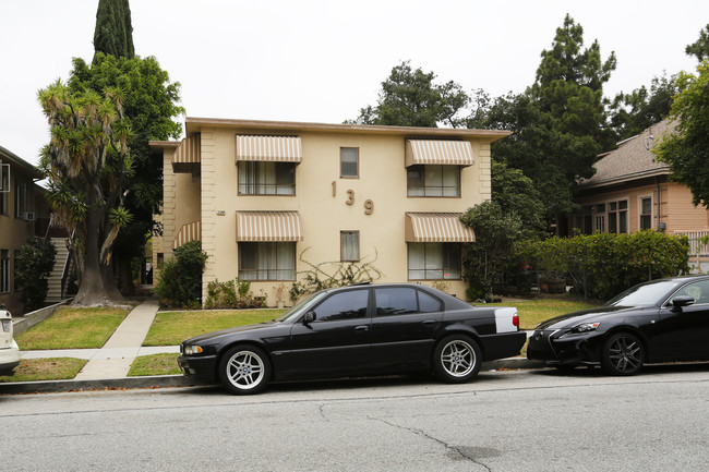
M460 213L407 213L406 242L472 243L476 233L460 222Z

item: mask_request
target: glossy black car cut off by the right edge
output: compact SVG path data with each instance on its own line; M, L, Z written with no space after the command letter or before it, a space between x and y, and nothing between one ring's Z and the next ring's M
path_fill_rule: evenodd
M709 360L709 276L652 280L603 306L540 323L527 358L633 375L654 362Z

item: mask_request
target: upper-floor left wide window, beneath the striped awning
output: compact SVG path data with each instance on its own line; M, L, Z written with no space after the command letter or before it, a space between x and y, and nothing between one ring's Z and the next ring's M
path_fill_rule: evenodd
M292 162L239 162L240 195L295 195L296 165Z

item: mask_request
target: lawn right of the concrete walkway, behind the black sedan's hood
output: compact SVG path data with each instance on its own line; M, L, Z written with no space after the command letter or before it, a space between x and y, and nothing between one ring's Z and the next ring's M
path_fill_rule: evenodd
M177 346L188 338L235 326L262 323L285 310L215 310L158 313L143 346Z

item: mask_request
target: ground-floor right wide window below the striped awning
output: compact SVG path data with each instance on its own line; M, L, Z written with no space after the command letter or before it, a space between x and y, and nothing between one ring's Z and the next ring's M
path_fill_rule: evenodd
M408 243L409 280L459 280L460 243Z

